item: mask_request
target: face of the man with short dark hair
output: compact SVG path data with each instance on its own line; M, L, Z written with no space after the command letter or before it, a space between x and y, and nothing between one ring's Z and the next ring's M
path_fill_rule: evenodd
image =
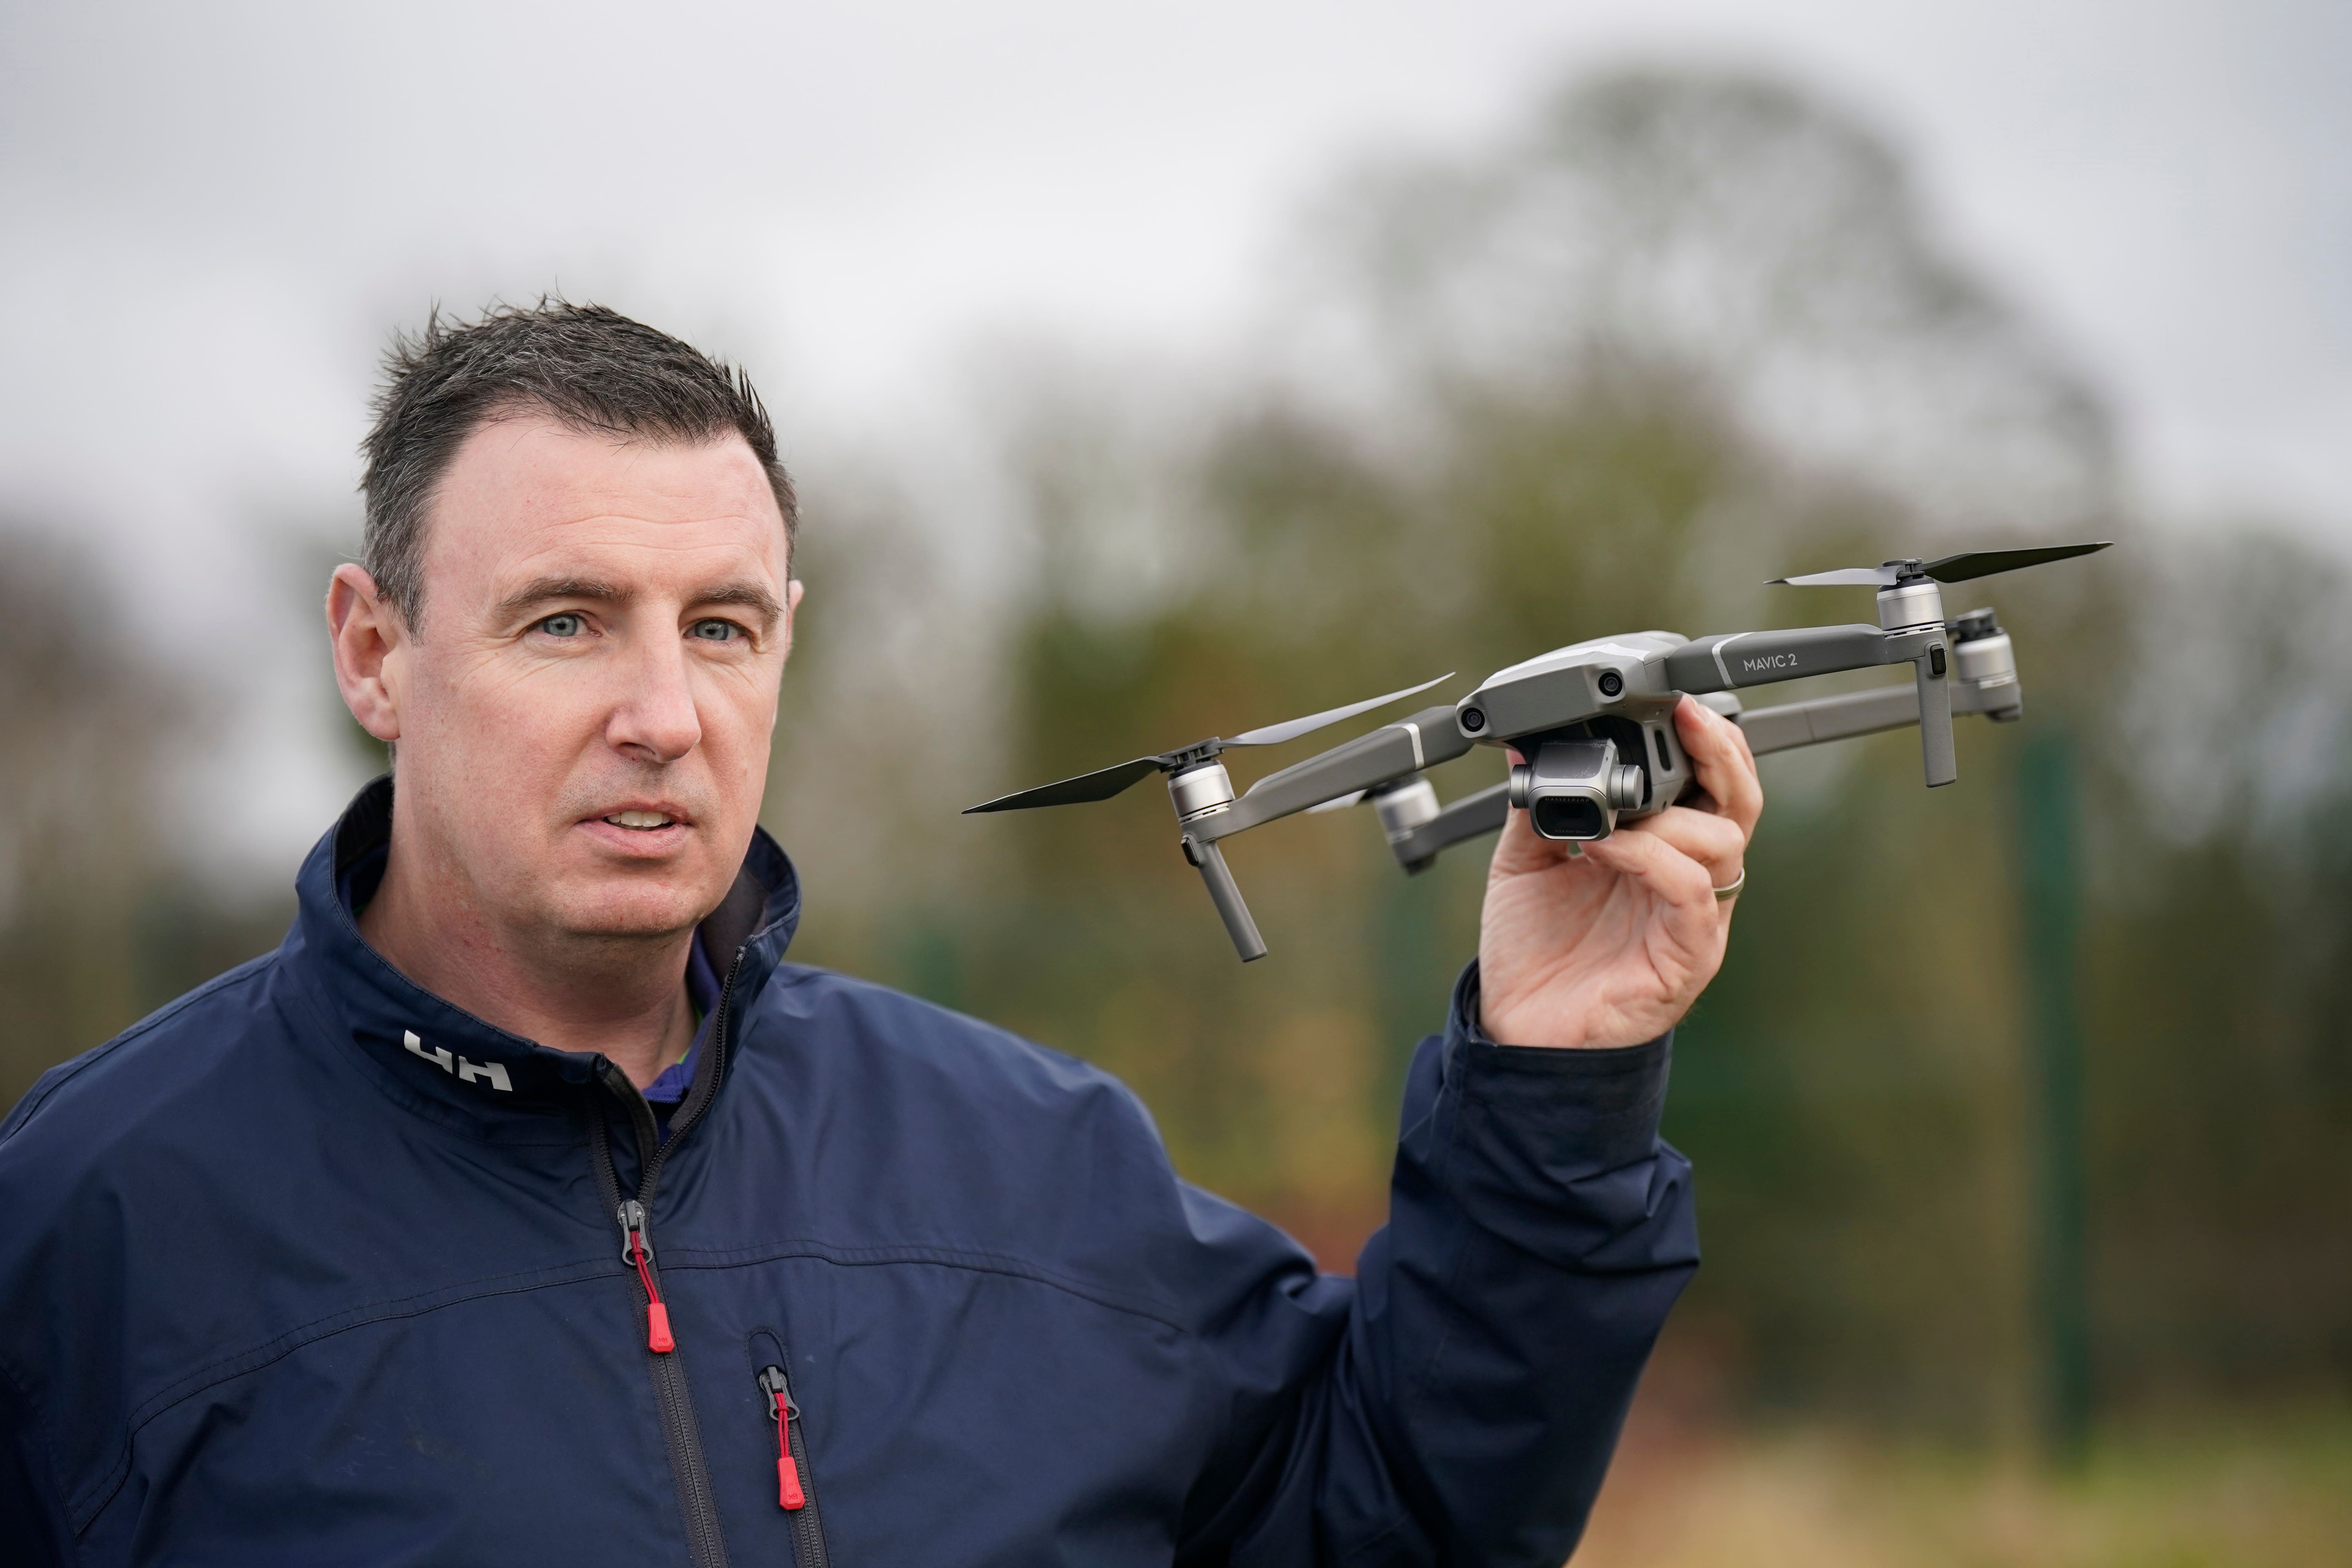
M522 940L691 929L750 844L797 590L741 437L475 430L383 658L402 853Z

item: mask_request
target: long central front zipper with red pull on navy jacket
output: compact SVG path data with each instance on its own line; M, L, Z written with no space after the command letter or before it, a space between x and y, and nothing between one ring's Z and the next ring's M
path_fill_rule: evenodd
M670 1338L670 1309L661 1300L661 1269L654 1265L652 1208L654 1190L661 1182L661 1161L670 1145L687 1128L701 1121L710 1095L727 1067L727 1023L734 1001L736 976L743 973L746 943L727 966L727 983L720 987L720 1006L710 1018L710 1063L694 1074L694 1091L670 1119L670 1135L654 1133L654 1110L628 1081L628 1074L604 1063L604 1088L628 1107L630 1131L637 1140L637 1197L621 1199L621 1173L612 1164L612 1143L604 1133L604 1107L588 1105L588 1140L595 1145L597 1185L604 1190L604 1211L621 1225L621 1260L637 1272L637 1288L644 1291L644 1359L654 1375L654 1403L661 1408L661 1436L670 1453L670 1479L677 1483L677 1509L687 1526L687 1549L694 1568L727 1568L727 1537L720 1530L717 1500L710 1493L710 1465L703 1460L703 1432L694 1420L694 1399L687 1392L687 1368L675 1354Z

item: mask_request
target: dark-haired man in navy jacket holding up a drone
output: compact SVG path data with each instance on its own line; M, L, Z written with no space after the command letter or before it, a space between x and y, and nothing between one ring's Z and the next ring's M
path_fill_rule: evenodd
M1762 797L1515 816L1357 1276L1103 1074L783 961L795 503L741 376L435 322L334 670L395 748L287 943L0 1126L33 1563L1557 1563L1696 1262L1658 1143ZM1505 1044L1494 1044L1505 1041Z

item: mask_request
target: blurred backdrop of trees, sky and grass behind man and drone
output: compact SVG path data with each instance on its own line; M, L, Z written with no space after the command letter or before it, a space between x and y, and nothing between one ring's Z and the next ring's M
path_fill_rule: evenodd
M435 301L750 367L795 957L1120 1072L1334 1269L1484 849L1237 842L1244 971L1157 790L962 806L2117 538L1955 590L2027 691L1957 788L1766 759L1668 1112L1708 1262L1578 1563L2352 1561L2347 73L2321 0L16 0L0 1103L270 947L381 769L318 604Z

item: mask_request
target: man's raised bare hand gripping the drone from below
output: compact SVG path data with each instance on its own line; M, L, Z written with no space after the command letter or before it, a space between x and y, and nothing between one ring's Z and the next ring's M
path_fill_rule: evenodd
M1505 1046L1635 1046L1665 1034L1724 961L1748 839L1764 813L1736 724L1691 698L1675 733L1705 797L1592 844L1536 837L1512 811L1486 872L1479 987ZM1581 853L1578 853L1581 851Z

